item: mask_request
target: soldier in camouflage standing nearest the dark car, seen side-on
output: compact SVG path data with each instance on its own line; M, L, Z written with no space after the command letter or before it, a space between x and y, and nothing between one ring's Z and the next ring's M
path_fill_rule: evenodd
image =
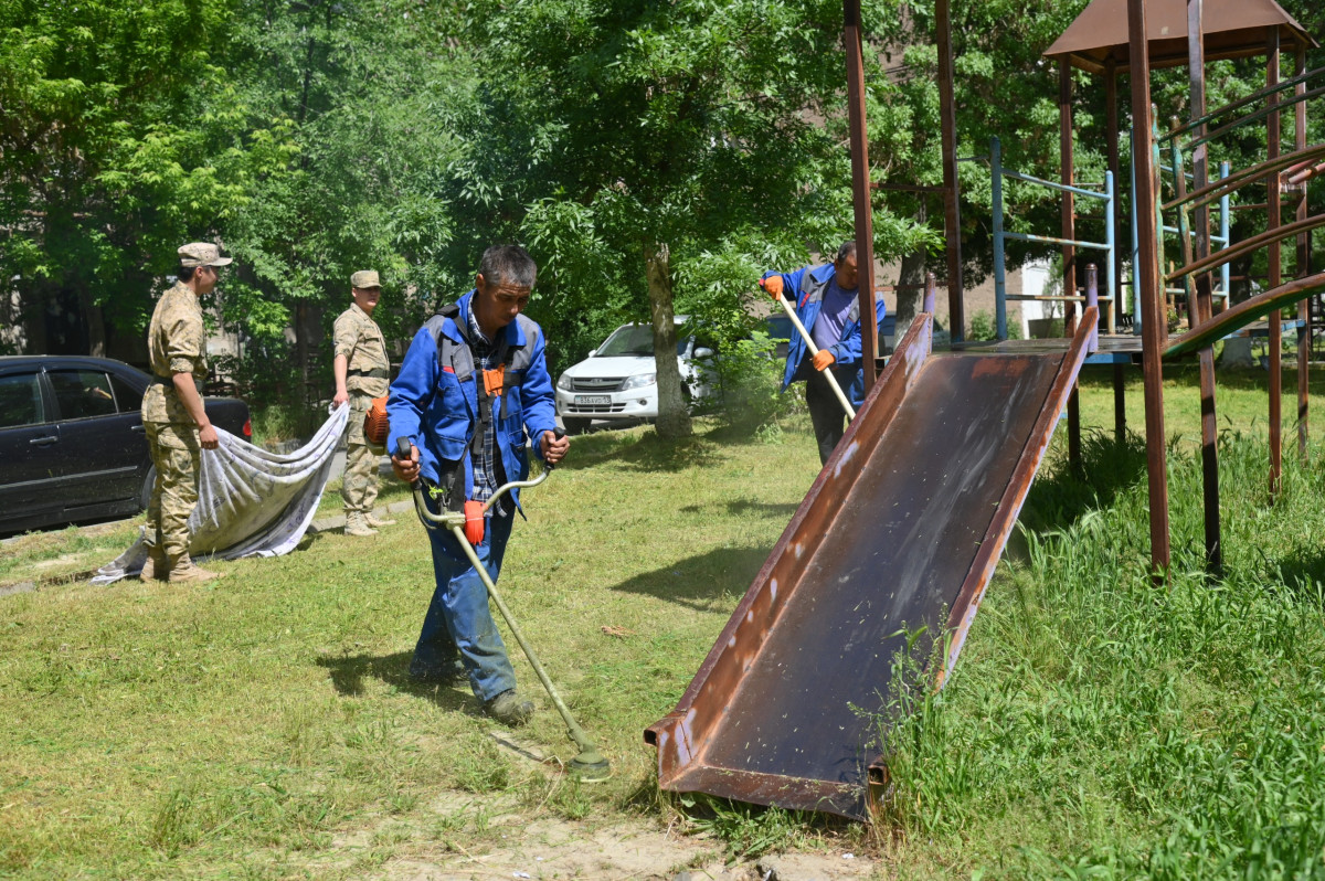
M199 387L207 379L207 333L197 298L216 287L220 266L231 262L216 245L179 249L179 281L156 302L147 329L152 383L143 393L143 428L156 481L147 506L147 564L143 580L170 583L220 578L188 556L188 515L197 505L201 449L216 449Z

